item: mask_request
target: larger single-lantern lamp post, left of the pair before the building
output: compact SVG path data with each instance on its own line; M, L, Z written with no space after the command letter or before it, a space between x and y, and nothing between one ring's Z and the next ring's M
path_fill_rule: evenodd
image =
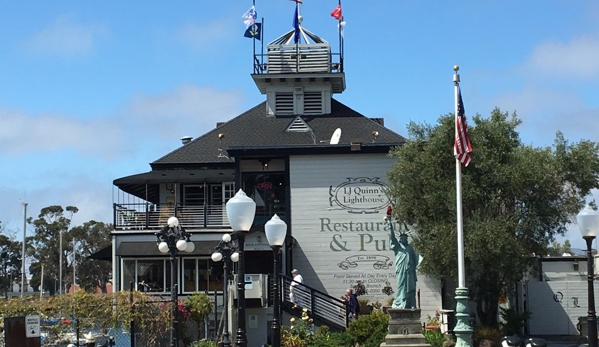
M239 265L237 266L237 334L236 347L247 347L247 334L245 331L245 261L243 255L245 234L254 223L256 203L250 199L243 190L239 190L234 197L227 201L227 218L231 228L237 235Z

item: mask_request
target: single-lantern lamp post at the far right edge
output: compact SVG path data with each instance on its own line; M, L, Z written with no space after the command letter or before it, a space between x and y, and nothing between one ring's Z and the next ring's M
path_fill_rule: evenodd
M597 347L597 316L595 316L595 289L593 282L595 280L595 272L593 271L593 254L591 245L597 236L599 229L599 212L586 206L576 216L578 228L582 234L582 238L587 242L587 281L588 281L588 297L589 297L589 314L587 316L587 331L589 339L589 347Z

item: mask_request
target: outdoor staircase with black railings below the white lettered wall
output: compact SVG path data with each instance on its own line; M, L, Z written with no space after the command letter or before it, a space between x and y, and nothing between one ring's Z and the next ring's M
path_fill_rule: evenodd
M326 293L311 288L305 284L294 287L294 295L299 301L299 307L289 299L289 286L293 278L280 275L281 308L292 316L301 317L302 309L307 308L310 318L317 325L327 325L330 331L344 331L349 321L347 318L347 306L341 299L334 298Z

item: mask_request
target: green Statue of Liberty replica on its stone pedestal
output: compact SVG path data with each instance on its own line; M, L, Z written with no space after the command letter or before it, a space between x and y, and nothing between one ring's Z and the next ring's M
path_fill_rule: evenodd
M407 347L428 345L420 324L420 309L416 302L416 268L419 256L408 243L408 235L395 235L392 208L387 208L385 222L390 233L390 248L395 253L397 288L389 313L389 332L381 347Z

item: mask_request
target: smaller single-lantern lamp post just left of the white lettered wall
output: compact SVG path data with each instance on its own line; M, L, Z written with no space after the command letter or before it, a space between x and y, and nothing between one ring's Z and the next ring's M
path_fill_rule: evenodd
M274 254L274 275L273 281L273 319L272 319L272 347L281 347L281 310L279 308L279 302L281 301L280 294L280 277L281 273L279 263L279 252L281 246L285 242L285 236L287 236L287 224L279 218L276 214L264 225L264 232L266 233L266 239L268 244L272 247Z

